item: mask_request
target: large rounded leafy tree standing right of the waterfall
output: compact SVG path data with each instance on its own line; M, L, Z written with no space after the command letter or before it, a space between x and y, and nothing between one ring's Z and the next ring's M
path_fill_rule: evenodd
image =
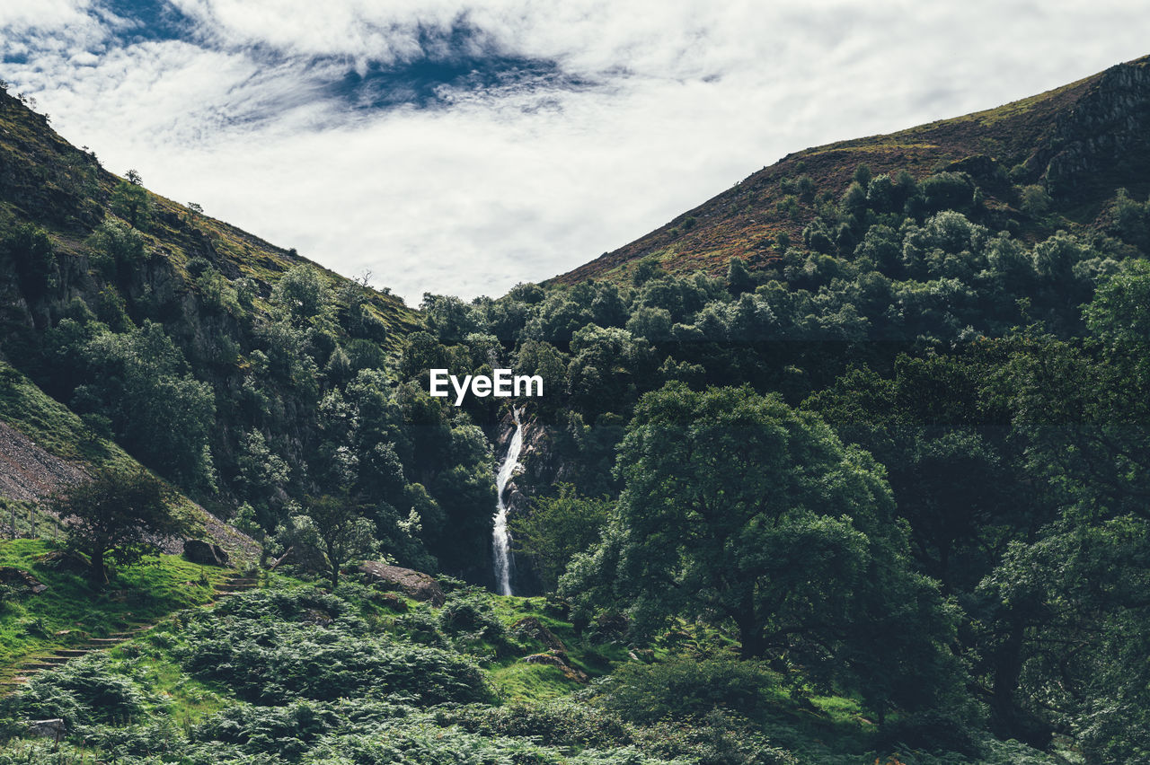
M744 658L787 655L880 720L958 705L953 618L910 571L882 468L816 416L672 382L641 399L616 470L604 540L561 580L581 608L624 606L644 633L672 617L734 627Z

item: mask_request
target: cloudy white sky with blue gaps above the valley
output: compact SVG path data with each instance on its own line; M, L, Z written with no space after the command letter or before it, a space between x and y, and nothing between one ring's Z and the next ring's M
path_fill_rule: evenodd
M106 168L345 276L500 295L785 154L1150 53L1141 0L2 0Z

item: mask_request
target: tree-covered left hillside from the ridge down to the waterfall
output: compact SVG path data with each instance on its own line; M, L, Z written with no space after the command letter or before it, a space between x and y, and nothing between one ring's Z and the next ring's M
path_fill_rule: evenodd
M0 362L277 555L327 496L409 565L489 571L484 434L399 373L422 326L107 172L0 86Z

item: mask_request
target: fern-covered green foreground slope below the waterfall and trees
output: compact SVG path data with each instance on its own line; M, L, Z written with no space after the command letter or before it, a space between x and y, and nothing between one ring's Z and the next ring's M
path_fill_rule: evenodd
M562 650L546 644L557 638ZM706 639L653 651L619 639L576 629L542 598L458 589L435 609L281 579L44 672L0 716L63 718L61 764L1055 762L990 739L946 752L945 732L884 742L853 700L739 665ZM586 675L535 660L547 654ZM0 763L47 756L12 731Z

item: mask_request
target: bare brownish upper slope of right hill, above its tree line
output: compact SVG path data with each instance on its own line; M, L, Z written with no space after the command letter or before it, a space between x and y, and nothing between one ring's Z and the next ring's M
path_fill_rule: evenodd
M1023 238L1049 233L1022 210L1028 185L1050 194L1061 225L1090 226L1117 188L1150 191L1148 136L1150 56L996 109L790 154L552 283L618 280L651 256L674 273L718 275L735 256L753 268L775 257L780 234L802 241L820 200L838 200L860 164L875 176L967 173L995 227Z

